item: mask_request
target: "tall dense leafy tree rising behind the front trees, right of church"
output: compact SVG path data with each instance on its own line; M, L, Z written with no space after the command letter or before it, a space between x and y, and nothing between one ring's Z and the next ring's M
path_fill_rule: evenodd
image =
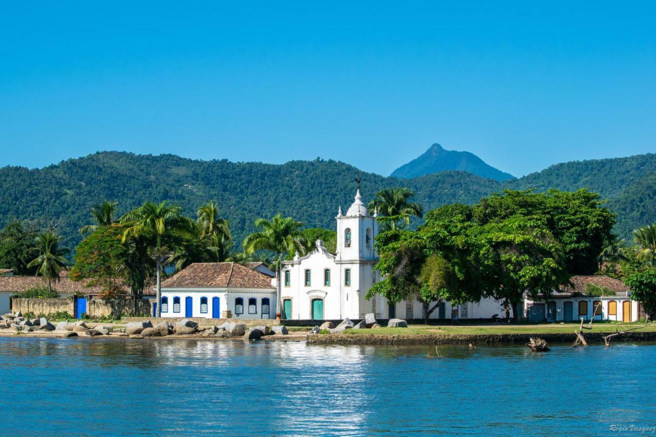
M541 220L561 243L567 271L594 274L602 249L615 240L611 232L615 215L603 203L598 194L588 190L504 190L474 205L473 219L482 225L514 216Z

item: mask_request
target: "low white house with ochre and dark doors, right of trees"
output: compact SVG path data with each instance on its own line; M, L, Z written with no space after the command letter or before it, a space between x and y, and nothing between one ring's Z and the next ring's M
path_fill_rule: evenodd
M636 322L640 319L642 308L631 299L630 289L622 281L608 276L573 276L570 281L572 286L557 291L548 302L524 299L523 316L529 322L573 322L581 318L586 322L591 318ZM592 295L592 289L598 293Z

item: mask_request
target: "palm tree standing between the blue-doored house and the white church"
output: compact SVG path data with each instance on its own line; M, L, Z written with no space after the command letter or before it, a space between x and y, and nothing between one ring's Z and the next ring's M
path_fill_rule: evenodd
M243 241L244 252L254 253L255 251L272 251L277 255L276 264L276 318L280 318L281 302L281 262L285 253L300 252L304 253L308 241L300 228L301 222L297 222L291 217L283 218L277 214L271 220L258 218L255 220L255 227L260 231L247 236Z

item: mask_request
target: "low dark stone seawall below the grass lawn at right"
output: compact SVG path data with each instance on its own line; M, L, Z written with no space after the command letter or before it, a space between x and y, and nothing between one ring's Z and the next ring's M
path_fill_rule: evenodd
M586 333L588 343L604 344L604 336L613 333ZM308 344L526 344L529 339L539 337L548 343L574 343L576 335L571 334L317 334L308 335ZM656 331L631 331L614 337L611 343L626 341L656 341Z

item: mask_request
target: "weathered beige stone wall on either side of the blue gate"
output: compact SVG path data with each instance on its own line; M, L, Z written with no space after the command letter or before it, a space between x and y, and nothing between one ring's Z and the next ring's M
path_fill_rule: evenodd
M148 299L138 299L137 314L148 314L151 311L151 303ZM12 312L31 312L36 315L45 314L50 316L55 313L66 312L75 315L75 298L61 297L58 299L23 299L12 298ZM102 299L87 299L87 314L89 317L121 316L122 314L134 314L134 301L132 298L114 299L103 301Z

